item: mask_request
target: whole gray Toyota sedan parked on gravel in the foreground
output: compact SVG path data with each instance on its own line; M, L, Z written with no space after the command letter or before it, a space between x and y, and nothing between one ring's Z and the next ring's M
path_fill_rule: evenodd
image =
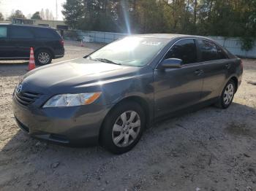
M99 143L121 154L156 120L211 104L226 109L242 73L239 58L202 36L127 36L27 73L13 93L13 112L36 138Z

